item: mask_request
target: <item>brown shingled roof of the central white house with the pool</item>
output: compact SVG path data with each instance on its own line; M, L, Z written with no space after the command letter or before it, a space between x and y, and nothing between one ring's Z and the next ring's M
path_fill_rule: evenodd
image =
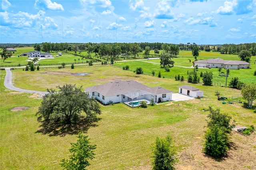
M85 89L85 91L86 92L96 91L104 96L121 95L131 91L145 91L152 94L161 94L161 92L164 92L164 93L172 92L162 87L151 88L141 83L138 83L137 81L134 81L134 80L128 80L128 81L115 80L103 85L88 87Z

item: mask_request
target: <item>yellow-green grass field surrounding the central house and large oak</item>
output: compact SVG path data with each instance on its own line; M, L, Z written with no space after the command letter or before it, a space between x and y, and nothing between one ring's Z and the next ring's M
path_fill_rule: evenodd
M136 62L137 67L138 65L143 67L144 72L148 68L150 74L151 69L156 67L160 69L159 64ZM130 65L131 70L136 68L134 61L120 64L120 66ZM176 68L177 70L174 70ZM187 69L190 68L172 67L170 73L173 71L186 74ZM213 70L209 69L209 71ZM238 71L243 70L248 70L248 75L253 74L253 69ZM201 69L198 72L200 71ZM231 70L230 76L235 74L233 71ZM57 85L62 86L65 83L82 85L86 88L115 79L132 79L150 87L161 86L177 93L178 86L186 84L186 82L174 81L173 78L136 75L132 71L124 71L111 65L83 65L75 66L75 69L41 68L40 71L16 69L12 72L16 87L38 91L45 91L46 88L55 89ZM217 69L216 72L218 72ZM89 74L81 76L73 73ZM164 75L164 71L161 73ZM242 79L244 75L243 72L239 77ZM0 167L3 169L62 169L59 165L60 160L68 158L68 149L71 142L76 142L76 134L40 132L40 123L36 121L35 113L42 99L38 98L38 95L6 89L3 85L4 76L5 71L0 71ZM168 77L167 74L166 77ZM148 106L146 109L130 108L122 103L101 106L102 115L99 116L101 120L95 127L83 131L91 138L92 144L97 145L96 158L91 161L89 169L149 170L152 156L150 147L157 136L163 138L167 134L172 136L178 149L180 162L176 165L177 169L256 168L255 132L251 136L233 132L231 140L234 145L229 151L229 156L224 160L214 160L202 153L208 114L204 109L208 106L214 109L220 108L221 112L228 113L238 126L256 125L256 115L253 110L244 109L240 103L223 105L214 95L218 90L221 91L222 96L232 97L240 95L240 91L220 86L203 86L202 83L192 86L204 91L202 99L164 103L153 107ZM27 107L27 109L12 111L15 107Z

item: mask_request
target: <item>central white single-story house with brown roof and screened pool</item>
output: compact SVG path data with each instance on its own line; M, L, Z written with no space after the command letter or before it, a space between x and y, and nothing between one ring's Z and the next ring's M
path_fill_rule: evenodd
M162 87L151 88L134 80L115 80L103 85L88 87L84 91L104 104L125 103L131 107L138 105L142 100L146 100L148 104L151 99L154 103L172 100L172 91Z

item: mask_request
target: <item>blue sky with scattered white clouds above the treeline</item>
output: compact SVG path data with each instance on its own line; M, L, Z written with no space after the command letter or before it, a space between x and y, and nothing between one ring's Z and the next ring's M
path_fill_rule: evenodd
M0 43L256 42L256 0L0 2Z

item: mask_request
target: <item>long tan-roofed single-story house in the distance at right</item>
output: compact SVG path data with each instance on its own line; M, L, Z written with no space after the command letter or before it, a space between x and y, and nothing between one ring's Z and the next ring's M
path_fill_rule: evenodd
M221 58L198 60L194 61L194 66L198 67L212 67L212 68L224 68L224 69L249 69L250 63L239 60L224 60Z

